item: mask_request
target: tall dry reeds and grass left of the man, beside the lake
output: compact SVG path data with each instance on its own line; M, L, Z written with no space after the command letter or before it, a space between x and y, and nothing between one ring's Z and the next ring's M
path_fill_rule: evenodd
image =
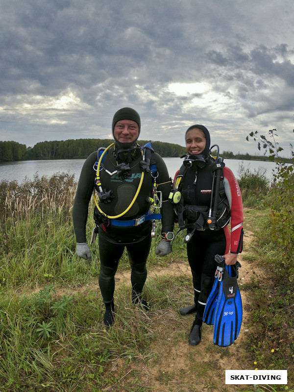
M0 183L0 282L18 286L50 279L85 279L97 265L77 260L71 210L76 183L69 174ZM97 262L96 262L97 263ZM90 267L90 269L89 269ZM92 268L93 267L93 268Z

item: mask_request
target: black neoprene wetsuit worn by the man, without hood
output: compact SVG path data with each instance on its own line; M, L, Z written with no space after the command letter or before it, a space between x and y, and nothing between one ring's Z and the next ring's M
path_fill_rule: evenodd
M113 147L107 151L103 161L103 168L114 172L117 167ZM129 162L130 176L123 178L117 174L110 175L106 170L100 171L103 189L112 190L113 198L110 203L99 203L99 207L108 216L121 214L133 200L138 189L142 175L140 161L141 152L133 156ZM151 160L156 163L158 176L157 190L162 191L162 233L173 229L172 204L168 201L172 183L163 159L157 153L152 153ZM86 159L78 182L77 192L73 204L73 225L77 243L86 243L86 223L88 218L88 205L93 194L96 171L93 169L97 161L97 152L93 152ZM150 172L144 172L142 188L130 210L122 217L117 218L127 221L139 218L146 214L150 203L146 201L151 195L153 182ZM132 291L141 294L147 278L146 262L151 245L151 221L145 221L138 226L115 226L100 224L98 231L98 245L100 256L99 287L105 303L113 300L115 281L114 276L118 268L119 259L126 247L130 266Z

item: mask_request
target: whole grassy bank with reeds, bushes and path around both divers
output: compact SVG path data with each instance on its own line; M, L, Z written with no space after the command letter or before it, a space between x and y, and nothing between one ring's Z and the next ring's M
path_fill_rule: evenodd
M241 254L242 270L247 264L252 273L239 283L248 332L226 348L211 344L211 336L209 343L187 344L191 319L178 314L183 303L192 301L191 276L185 273L147 280L150 312L131 306L129 279L117 282L117 318L106 329L101 295L93 284L99 273L98 241L91 245L91 262L75 254L73 176L35 176L21 185L0 182L0 391L294 392L294 234L289 222L294 180L287 170L269 184L263 172L241 168L245 236L252 232ZM87 238L92 229L91 204ZM176 236L172 253L159 258L157 226L148 271L187 264L184 233ZM129 272L127 254L119 270ZM208 329L203 340L211 334ZM225 385L224 369L236 368L287 369L288 386Z

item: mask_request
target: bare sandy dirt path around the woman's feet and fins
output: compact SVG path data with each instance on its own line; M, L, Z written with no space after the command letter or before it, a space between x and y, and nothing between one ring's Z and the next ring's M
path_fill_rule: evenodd
M246 230L244 242L245 249L249 249L249 244L253 239L253 233ZM243 322L238 341L229 347L221 348L213 344L213 327L203 325L201 343L194 347L188 344L188 336L193 322L193 315L188 316L186 326L186 342L185 344L170 344L167 349L164 349L161 354L161 361L159 365L155 365L149 369L149 375L156 379L158 374L164 375L165 372L173 373L174 386L176 383L181 385L181 391L208 391L214 390L213 386L218 386L217 391L237 391L236 386L225 386L225 370L226 369L242 369L244 366L245 356L240 351L240 346L245 342L246 335L250 333L248 329L248 315L247 310L250 307L250 300L248 294L242 290L242 285L250 283L251 277L257 270L252 270L252 264L245 261L244 257L248 251L244 250L242 255L238 258L242 268L239 270L239 288L242 295L243 302ZM160 273L156 272L155 273ZM165 272L166 273L166 272ZM191 276L188 264L177 263L172 265L171 274L187 274ZM171 337L172 340L172 337ZM248 364L245 369L252 369L253 364ZM201 374L202 373L202 374ZM197 375L197 376L196 376ZM155 386L155 391L177 391L176 387L172 389L165 389L162 382L158 381L152 383Z

